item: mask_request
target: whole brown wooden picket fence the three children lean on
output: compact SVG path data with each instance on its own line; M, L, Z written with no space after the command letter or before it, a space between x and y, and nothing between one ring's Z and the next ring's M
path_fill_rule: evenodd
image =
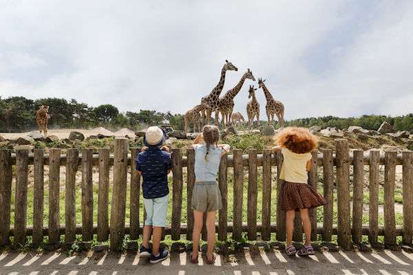
M377 242L377 236L384 236L386 244L395 245L396 236L403 236L404 243L412 243L413 236L413 151L405 151L397 155L396 151L386 151L380 155L379 151L371 150L369 155L362 150L349 153L347 140L335 141L335 155L332 149L321 150L322 154L313 153L313 168L308 172L308 184L317 188L324 186L324 197L328 204L324 206L323 223L317 224L316 210L310 210L310 219L313 227L312 240L317 234L322 235L324 241L331 241L332 234L337 234L338 243L343 249L350 249L350 243L360 243L362 235L368 235L370 243ZM34 149L30 154L28 149L17 150L12 154L8 149L0 150L0 245L10 243L10 236L14 236L14 243L25 243L26 236L31 235L33 243L41 243L43 236L49 236L50 243L60 241L65 235L66 242L76 240L76 234L82 234L83 241L93 239L97 234L98 241L106 241L110 235L110 246L117 249L124 234L130 234L131 239L138 239L142 232L139 223L140 177L134 169L134 161L139 153L138 148L131 148L128 155L128 140L116 138L114 155L109 155L109 148L100 148L98 155L92 154L92 149L85 148L79 151L76 148L67 149L66 155L61 155L61 149L52 148L49 154L43 149ZM195 181L193 150L187 150L187 156L182 156L179 148L172 149L173 163L172 185L172 217L171 224L165 228L166 234L171 234L172 240L180 239L181 234L192 237L193 214L190 209L192 188ZM130 177L130 223L125 224L125 206L127 201L127 166L131 165ZM234 149L233 155L224 155L221 159L218 186L222 194L223 208L218 212L218 239L225 241L228 233L234 239L239 239L242 232L248 232L248 239L257 239L257 232L261 238L269 240L271 232L276 232L279 241L285 241L285 213L279 208L277 199L276 223L271 223L271 183L276 181L277 197L280 196L284 182L271 178L271 170L276 169L277 175L282 164L282 155L271 155L270 149L264 149L257 155L257 150L250 149L248 155L242 155L241 149ZM379 226L379 165L385 165L384 182L384 225ZM43 225L43 167L49 166L49 206L48 225ZM352 223L350 223L350 166L353 166L352 175ZM394 184L396 165L403 165L403 225L395 225L394 215ZM15 173L12 175L12 166ZM28 197L28 167L34 170L34 209L33 225L27 225L27 197ZM59 208L60 167L65 166L65 209ZM98 223L93 223L93 192L92 168L98 166ZM109 168L113 166L112 210L110 223L108 215L109 201ZM182 210L182 167L187 167L187 223L180 223ZM248 167L248 193L243 194L244 167ZM262 166L262 222L257 222L257 167ZM323 180L319 182L317 169L323 166ZM369 166L369 224L362 224L363 211L363 167ZM75 177L81 167L81 208L82 223L76 224L75 217ZM228 173L227 168L233 167L233 221L228 217ZM16 187L14 196L14 225L10 225L10 208L12 195L12 177L15 177ZM336 180L335 180L336 179ZM336 186L335 183L336 182ZM274 184L273 184L274 185ZM333 192L337 188L337 225L333 225ZM247 209L243 209L242 201L246 197ZM65 212L65 224L60 224L60 212ZM247 212L247 222L242 222L242 213ZM302 241L302 226L299 215L295 219L293 239ZM110 224L110 226L109 226Z

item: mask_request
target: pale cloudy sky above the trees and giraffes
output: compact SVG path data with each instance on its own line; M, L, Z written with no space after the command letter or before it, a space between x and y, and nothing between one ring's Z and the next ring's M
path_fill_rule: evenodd
M413 1L0 0L0 96L122 112L185 113L220 80L246 118L258 78L284 120L405 115L413 106ZM260 119L266 98L255 91Z

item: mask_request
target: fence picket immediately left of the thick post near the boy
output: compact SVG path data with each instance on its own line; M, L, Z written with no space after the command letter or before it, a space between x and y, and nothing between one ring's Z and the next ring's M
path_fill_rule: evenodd
M109 148L99 148L98 241L109 238Z

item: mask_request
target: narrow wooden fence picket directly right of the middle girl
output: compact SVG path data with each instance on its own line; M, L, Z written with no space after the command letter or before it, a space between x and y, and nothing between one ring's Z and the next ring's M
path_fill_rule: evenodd
M228 170L228 154L221 157L220 169L218 172L218 186L220 187L221 197L222 197L222 208L218 213L218 240L226 241L227 234L227 217L228 217L228 181L227 181L227 170Z

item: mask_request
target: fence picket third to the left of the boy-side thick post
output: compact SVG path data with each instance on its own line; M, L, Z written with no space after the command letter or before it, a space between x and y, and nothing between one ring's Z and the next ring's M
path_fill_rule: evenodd
M66 151L65 188L65 241L76 241L76 172L79 164L79 151L68 148Z

